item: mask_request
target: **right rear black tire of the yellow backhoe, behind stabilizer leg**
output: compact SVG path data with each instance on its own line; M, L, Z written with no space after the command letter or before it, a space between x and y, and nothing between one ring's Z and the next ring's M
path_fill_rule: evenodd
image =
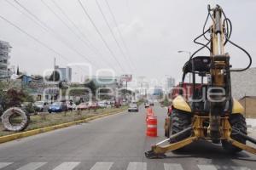
M242 116L240 113L231 115L229 122L232 128L236 128L237 130L240 130L241 133L247 134L247 122L245 120L245 117ZM239 134L231 133L230 137L231 139L237 140L241 144L246 144L246 139L243 139ZM224 150L227 150L230 153L236 153L241 151L240 148L237 148L226 140L222 141L222 146Z

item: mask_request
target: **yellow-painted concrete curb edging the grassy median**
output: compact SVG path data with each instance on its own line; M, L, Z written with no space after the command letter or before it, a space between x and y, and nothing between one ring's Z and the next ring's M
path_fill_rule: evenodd
M32 135L39 134L39 133L46 133L46 132L53 131L55 129L59 129L59 128L63 128L63 127L70 127L70 126L77 125L77 124L80 124L80 123L83 123L83 122L89 122L89 121L92 121L92 120L95 120L95 119L98 119L98 118L101 118L101 117L104 117L104 116L119 114L119 113L122 113L124 111L125 111L125 109L120 110L120 111L114 111L114 112L111 112L111 113L105 113L105 114L98 115L98 116L92 116L92 117L82 119L82 120L79 120L79 121L66 122L66 123L62 123L62 124L54 125L54 126L50 126L50 127L42 127L42 128L38 128L38 129L34 129L34 130L29 130L29 131L26 131L26 132L23 132L23 133L9 134L9 135L0 137L0 144L5 143L5 142L9 142L9 141L12 141L12 140L15 140L15 139L25 138L25 137L32 136Z

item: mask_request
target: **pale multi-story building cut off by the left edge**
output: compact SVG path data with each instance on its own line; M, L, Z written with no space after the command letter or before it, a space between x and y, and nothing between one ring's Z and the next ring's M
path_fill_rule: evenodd
M0 79L9 77L9 52L10 52L9 42L0 41Z

